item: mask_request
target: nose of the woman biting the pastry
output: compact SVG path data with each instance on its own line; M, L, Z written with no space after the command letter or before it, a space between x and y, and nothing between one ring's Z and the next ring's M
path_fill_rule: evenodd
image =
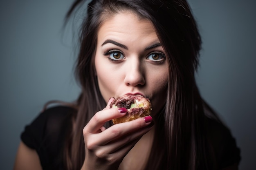
M133 60L126 67L124 82L127 86L143 86L145 84L144 66L139 60Z

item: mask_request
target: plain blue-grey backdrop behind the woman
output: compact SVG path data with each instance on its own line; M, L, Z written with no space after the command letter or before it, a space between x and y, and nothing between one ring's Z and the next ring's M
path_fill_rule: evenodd
M13 167L20 133L51 99L73 101L71 0L0 1L0 169ZM256 1L189 0L202 35L197 82L230 127L241 170L256 169Z

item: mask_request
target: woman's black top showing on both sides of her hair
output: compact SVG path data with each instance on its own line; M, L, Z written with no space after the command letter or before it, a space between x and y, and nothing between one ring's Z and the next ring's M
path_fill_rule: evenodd
M70 132L71 117L75 109L67 106L55 106L40 113L31 124L25 127L21 140L29 148L35 149L43 170L63 170L63 145ZM240 161L240 150L236 146L231 132L224 125L209 121L213 149L218 166L225 168Z

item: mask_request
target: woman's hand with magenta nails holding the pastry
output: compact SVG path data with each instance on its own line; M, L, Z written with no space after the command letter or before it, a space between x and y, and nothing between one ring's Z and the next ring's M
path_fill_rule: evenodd
M83 129L85 142L83 170L117 170L126 154L153 127L152 118L148 117L149 121L139 118L105 129L103 126L106 121L126 114L124 108L123 111L120 108L110 108L109 104L112 101L113 98Z

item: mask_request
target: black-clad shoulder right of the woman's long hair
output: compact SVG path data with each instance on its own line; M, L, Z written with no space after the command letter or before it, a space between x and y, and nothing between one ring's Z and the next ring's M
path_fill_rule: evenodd
M225 124L207 118L207 137L220 168L240 162L240 149L231 130Z

